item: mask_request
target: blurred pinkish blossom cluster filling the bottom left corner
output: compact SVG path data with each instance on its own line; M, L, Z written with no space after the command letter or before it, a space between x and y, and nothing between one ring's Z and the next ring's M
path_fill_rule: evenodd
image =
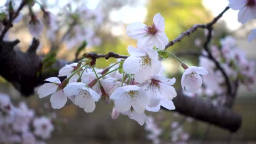
M45 143L53 130L50 118L37 117L24 102L16 107L0 93L0 143Z

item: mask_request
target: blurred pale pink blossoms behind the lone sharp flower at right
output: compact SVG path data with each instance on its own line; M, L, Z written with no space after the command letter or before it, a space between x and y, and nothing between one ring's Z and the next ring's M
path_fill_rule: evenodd
M237 46L235 38L229 35L226 36L220 40L220 46L212 45L210 52L217 59L231 81L237 80L248 89L253 88L255 63L250 61L246 57L246 53ZM202 55L204 56L199 57L199 65L209 73L207 76L203 76L203 87L197 91L196 95L207 95L212 97L214 104L224 104L224 95L226 94L224 76L216 68L214 62L207 57L206 51L202 50ZM194 94L185 94L194 96Z

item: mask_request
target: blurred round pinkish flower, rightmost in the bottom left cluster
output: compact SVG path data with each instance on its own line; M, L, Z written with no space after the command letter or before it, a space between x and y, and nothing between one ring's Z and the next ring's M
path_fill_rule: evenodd
M35 118L33 121L34 134L36 136L42 137L42 139L49 139L51 132L54 130L54 126L49 118L39 117Z

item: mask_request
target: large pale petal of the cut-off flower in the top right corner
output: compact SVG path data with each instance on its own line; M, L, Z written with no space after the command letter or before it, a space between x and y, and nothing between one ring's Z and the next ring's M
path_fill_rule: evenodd
M238 21L242 24L245 24L247 21L254 19L255 13L253 14L254 10L249 7L243 7L238 12Z

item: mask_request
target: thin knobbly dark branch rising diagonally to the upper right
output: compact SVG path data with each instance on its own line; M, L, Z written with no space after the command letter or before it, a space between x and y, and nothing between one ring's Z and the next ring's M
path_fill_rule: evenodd
M229 9L229 7L226 7L222 13L220 13L218 16L216 16L211 22L206 24L197 24L188 29L185 32L182 32L181 35L179 35L176 39L171 40L166 46L165 49L168 49L168 47L173 46L175 43L181 41L185 36L189 36L191 33L195 32L197 28L211 28L219 19L223 16L223 14Z

